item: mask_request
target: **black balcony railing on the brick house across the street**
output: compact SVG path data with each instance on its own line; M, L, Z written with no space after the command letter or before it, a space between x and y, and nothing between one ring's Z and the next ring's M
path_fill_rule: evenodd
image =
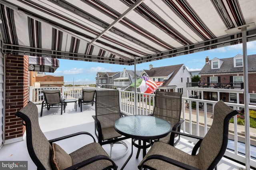
M244 89L244 83L209 83L204 82L199 84L198 82L187 83L187 88L217 88L217 89Z

